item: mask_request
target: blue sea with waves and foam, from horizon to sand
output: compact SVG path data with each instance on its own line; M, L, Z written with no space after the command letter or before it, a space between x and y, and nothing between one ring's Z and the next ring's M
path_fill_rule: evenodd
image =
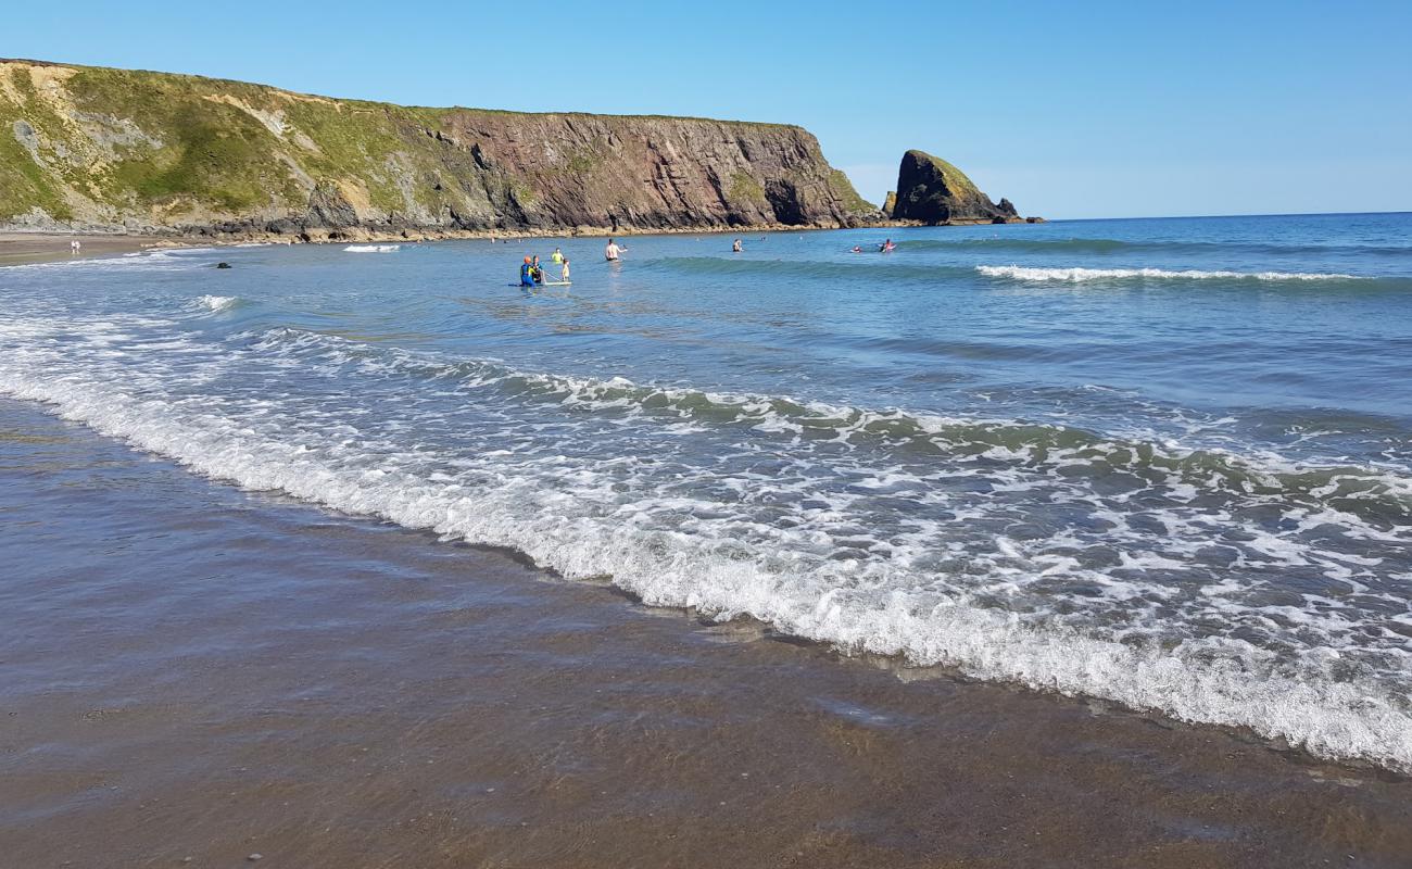
M0 393L651 603L1412 767L1412 215L741 239L3 268ZM507 285L555 244L570 287Z

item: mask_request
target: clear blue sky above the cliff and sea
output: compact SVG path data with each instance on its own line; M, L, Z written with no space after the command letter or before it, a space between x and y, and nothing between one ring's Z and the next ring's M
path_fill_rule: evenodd
M1024 215L1412 211L1412 3L20 3L0 57L329 96L796 123Z

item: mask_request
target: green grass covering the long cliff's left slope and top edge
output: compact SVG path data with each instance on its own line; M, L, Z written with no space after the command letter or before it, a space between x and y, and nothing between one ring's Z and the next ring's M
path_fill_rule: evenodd
M498 196L504 195L532 208L544 195L542 187L617 165L616 148L600 137L565 154L558 165L486 168L470 150L439 137L465 116L472 126L476 116L493 117L491 129L504 127L507 117L611 117L788 130L803 137L813 158L823 162L813 137L792 124L432 109L336 100L192 75L38 66L58 71L42 73L54 88L44 96L31 82L31 73L41 81L35 66L0 65L0 76L18 93L16 102L0 92L0 220L34 208L61 220L93 222L301 213L309 188L329 181L360 209L367 205L384 215L414 209L432 219L448 208L489 208L489 199L500 208ZM41 165L14 134L16 122L35 130L42 143ZM829 191L844 209L873 209L842 172L830 172ZM730 179L729 196L767 203L761 181L747 172ZM75 209L82 213L75 215Z

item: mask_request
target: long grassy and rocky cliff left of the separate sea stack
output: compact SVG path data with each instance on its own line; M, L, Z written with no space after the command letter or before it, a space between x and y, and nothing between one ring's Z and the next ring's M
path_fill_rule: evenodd
M794 126L421 109L0 61L0 226L352 237L877 216Z

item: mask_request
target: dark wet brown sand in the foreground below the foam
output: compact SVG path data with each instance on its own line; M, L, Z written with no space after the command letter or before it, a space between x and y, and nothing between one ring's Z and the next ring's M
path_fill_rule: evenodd
M702 625L8 400L0 565L7 866L1412 859L1405 777Z

